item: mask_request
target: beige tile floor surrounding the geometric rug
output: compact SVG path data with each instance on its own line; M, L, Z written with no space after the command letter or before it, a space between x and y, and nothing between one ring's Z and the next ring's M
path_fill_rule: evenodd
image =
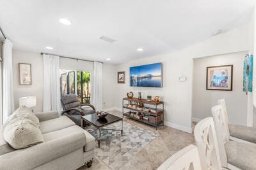
M122 116L120 111L109 111L116 116ZM164 160L169 158L173 153L181 150L189 144L194 144L194 135L176 130L170 127L159 127L155 130L154 127L144 125L143 123L124 118L124 121L136 125L141 128L145 128L152 132L155 132L159 136L156 137L150 144L145 146L139 153L132 157L122 169L157 169ZM93 160L92 167L87 169L85 166L79 168L79 170L101 170L109 169L104 162L97 159Z

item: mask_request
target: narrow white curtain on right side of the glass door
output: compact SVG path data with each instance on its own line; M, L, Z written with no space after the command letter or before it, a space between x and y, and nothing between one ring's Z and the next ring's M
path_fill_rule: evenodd
M93 63L92 104L96 111L102 109L102 63Z

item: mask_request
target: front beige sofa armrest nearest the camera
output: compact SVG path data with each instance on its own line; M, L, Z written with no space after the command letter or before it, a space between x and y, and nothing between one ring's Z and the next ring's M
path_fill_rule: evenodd
M26 148L10 157L1 158L1 169L33 169L63 157L72 151L83 149L86 145L86 136L83 132L66 135L52 141L37 144Z

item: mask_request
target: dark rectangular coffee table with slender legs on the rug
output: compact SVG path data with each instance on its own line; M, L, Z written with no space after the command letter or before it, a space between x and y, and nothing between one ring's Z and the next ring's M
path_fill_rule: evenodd
M106 127L108 125L111 125L113 123L116 123L118 121L122 121L122 129L107 129L104 128L104 130L118 130L121 132L121 135L123 135L123 118L120 118L118 116L115 116L113 114L109 114L105 118L99 118L96 113L88 114L85 116L82 116L81 118L81 127L84 127L84 121L87 123L90 123L93 127L97 128L97 134L98 134L98 146L100 148L100 133L101 129L103 127Z

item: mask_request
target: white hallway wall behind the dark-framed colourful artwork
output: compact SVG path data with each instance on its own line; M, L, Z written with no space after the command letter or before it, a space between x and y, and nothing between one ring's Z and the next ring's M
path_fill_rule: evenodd
M211 114L218 99L225 98L230 123L246 125L247 95L243 92L243 61L246 52L194 59L193 69L193 120L202 120ZM233 90L206 90L206 67L233 65Z

